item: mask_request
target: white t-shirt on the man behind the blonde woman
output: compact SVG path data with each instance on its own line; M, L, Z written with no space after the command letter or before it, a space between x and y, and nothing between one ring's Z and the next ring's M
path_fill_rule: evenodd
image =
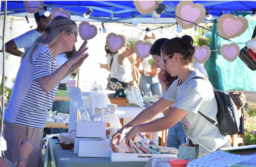
M15 42L17 49L24 48L24 50L26 50L40 35L41 33L34 29L13 38L13 41Z

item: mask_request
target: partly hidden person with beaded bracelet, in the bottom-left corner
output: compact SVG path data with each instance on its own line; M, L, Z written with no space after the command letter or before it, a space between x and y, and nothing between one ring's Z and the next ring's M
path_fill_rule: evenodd
M1 128L1 118L2 115L0 114L0 128ZM4 130L5 130L5 119L3 119L3 130L2 130L2 137L4 138ZM22 140L21 138L16 141L16 145L18 153L19 153L19 158L16 160L17 164L16 166L6 159L3 154L2 157L0 157L0 166L1 167L26 167L26 161L24 159L28 159L29 154L33 150L33 143L29 139L24 139Z

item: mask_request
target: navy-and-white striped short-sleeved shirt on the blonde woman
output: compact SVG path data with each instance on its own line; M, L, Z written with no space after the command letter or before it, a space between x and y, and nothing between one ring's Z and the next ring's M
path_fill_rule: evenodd
M43 129L58 85L49 92L44 92L38 79L53 73L57 65L45 45L38 46L32 61L31 63L28 52L20 64L5 118L10 123Z

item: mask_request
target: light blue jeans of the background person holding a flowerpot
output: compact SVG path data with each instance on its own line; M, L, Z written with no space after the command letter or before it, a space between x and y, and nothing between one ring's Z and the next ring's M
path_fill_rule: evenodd
M140 84L138 86L144 94L148 94L150 91L152 95L162 96L161 85L157 77L151 78L141 74Z

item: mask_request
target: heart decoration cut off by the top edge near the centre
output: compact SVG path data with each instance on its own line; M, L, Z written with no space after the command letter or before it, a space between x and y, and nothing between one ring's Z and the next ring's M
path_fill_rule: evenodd
M163 1L157 1L158 4ZM133 5L140 12L140 14L152 13L158 5L155 1L133 1Z

